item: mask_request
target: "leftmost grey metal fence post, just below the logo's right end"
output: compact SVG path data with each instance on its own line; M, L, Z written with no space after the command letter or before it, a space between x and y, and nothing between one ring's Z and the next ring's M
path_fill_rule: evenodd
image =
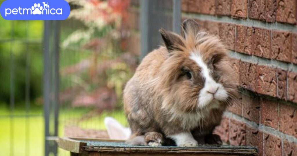
M51 33L53 32L53 33ZM57 155L55 142L59 126L59 21L44 21L43 100L45 121L45 156ZM53 123L53 124L50 124Z

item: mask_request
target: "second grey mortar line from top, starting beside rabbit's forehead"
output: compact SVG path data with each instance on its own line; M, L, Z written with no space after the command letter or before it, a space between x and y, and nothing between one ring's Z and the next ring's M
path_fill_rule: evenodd
M245 62L250 62L254 64L259 64L259 65L266 65L266 66L280 68L287 71L297 72L297 65L293 63L287 63L287 62L277 61L273 59L266 59L266 58L262 58L254 55L251 56L251 55L238 53L236 51L231 51L231 50L229 50L229 56L235 59L241 59L242 61L245 61Z

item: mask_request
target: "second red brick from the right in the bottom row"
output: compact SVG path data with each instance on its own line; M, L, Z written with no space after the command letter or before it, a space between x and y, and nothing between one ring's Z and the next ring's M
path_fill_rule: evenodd
M282 141L280 138L270 134L264 134L264 156L282 155L281 146Z

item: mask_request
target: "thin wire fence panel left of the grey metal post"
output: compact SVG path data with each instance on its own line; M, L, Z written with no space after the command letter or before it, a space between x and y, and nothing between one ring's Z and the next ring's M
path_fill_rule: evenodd
M41 154L42 148L32 150L35 144L42 144L44 138L41 103L33 99L41 96L42 34L32 34L39 21L0 21L0 155ZM37 80L34 80L37 79ZM36 84L33 84L33 82ZM32 90L34 90L32 92ZM39 92L39 93L38 93ZM39 135L38 135L39 134ZM38 137L38 139L36 139Z

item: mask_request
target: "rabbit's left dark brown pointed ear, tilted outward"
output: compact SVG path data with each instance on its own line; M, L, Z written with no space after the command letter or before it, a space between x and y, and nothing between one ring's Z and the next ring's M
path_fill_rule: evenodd
M166 45L168 52L171 52L174 50L181 50L178 47L184 46L184 43L181 40L181 37L179 35L173 32L166 31L163 28L159 30L159 33L162 36L162 39Z

